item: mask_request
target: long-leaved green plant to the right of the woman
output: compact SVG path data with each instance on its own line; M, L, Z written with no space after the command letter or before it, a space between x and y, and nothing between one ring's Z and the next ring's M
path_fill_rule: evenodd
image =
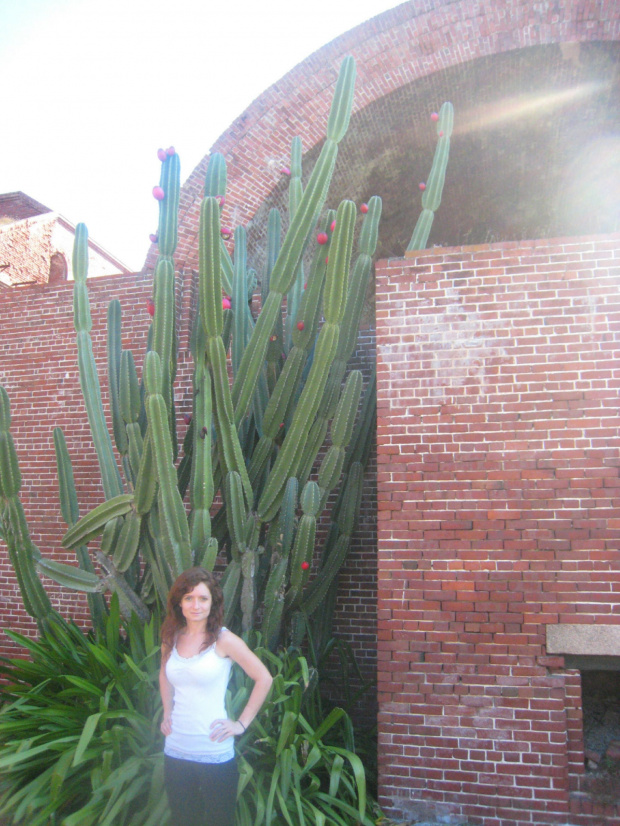
M318 674L299 651L259 649L274 683L260 718L238 743L239 826L270 823L371 826L366 776L353 727L341 708L320 713ZM251 685L237 671L230 706L240 710ZM317 712L319 712L317 714Z

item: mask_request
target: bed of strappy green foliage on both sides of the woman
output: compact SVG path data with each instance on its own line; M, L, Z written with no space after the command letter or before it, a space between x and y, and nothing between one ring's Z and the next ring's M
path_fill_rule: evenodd
M119 625L121 630L119 632ZM0 816L15 826L164 826L158 621L122 623L114 598L98 640L62 620L29 660L0 663ZM254 640L257 642L257 640ZM238 823L366 824L366 779L342 709L324 714L318 674L299 651L255 646L274 676L237 743ZM251 683L233 670L232 715Z

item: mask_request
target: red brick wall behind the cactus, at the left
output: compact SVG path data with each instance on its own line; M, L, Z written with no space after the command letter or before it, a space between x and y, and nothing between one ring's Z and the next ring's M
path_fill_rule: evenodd
M145 276L116 276L89 281L93 317L93 348L107 409L106 314L111 298L123 311L123 347L131 349L138 366L146 344L150 318L146 299L151 292ZM0 384L11 400L11 432L22 472L21 499L33 541L45 555L72 562L75 555L60 549L66 530L60 516L53 428L62 427L73 461L81 512L103 501L97 458L90 438L77 372L73 327L73 284L14 287L2 293ZM65 616L84 619L86 601L49 580L54 607ZM19 588L2 545L0 556L0 629L34 633L34 622L21 606ZM14 649L0 634L0 653Z

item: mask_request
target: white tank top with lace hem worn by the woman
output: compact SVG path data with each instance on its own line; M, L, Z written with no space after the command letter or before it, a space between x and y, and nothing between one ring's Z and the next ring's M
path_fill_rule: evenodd
M222 628L220 634L225 631ZM235 756L234 737L211 740L211 723L225 719L226 687L232 660L220 657L215 643L193 657L182 657L176 645L166 663L166 677L174 688L172 734L164 754L196 763L224 763Z

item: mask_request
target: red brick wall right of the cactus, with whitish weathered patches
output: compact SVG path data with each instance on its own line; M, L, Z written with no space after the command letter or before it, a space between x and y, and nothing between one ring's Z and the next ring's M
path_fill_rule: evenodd
M579 672L620 623L620 236L377 269L378 691L388 810L612 824L576 794ZM572 793L572 794L571 794Z

